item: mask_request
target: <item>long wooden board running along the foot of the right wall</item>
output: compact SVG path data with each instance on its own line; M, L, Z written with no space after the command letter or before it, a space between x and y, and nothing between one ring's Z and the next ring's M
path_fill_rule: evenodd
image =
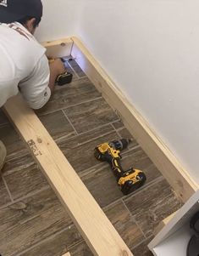
M130 104L130 101L108 77L108 74L103 71L83 43L77 37L72 37L72 40L74 42L72 56L109 105L118 113L125 127L130 130L130 133L169 181L181 200L186 202L198 189L196 182L163 141L158 138L158 135L150 128L135 106Z

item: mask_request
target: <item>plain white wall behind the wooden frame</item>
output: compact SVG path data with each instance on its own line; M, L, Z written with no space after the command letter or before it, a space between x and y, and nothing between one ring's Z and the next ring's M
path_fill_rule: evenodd
M58 3L66 12L40 37L79 36L199 183L199 2L45 2L47 14Z

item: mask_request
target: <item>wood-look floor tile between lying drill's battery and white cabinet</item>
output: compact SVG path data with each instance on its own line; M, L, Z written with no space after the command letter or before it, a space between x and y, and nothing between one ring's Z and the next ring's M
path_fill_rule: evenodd
M147 191L142 190L138 195L135 193L124 203L146 237L152 236L154 228L162 219L181 207L165 179L154 183Z

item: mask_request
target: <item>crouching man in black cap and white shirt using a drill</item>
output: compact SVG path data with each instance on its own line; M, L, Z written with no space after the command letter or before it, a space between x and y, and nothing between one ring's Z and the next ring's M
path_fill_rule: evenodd
M32 109L41 108L65 71L61 60L48 65L45 48L33 37L41 17L41 0L0 0L0 107L20 92ZM5 157L0 141L0 170Z

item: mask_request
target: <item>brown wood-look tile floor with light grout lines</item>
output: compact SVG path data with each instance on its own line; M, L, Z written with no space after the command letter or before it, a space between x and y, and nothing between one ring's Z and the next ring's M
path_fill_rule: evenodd
M122 164L141 168L147 181L123 196L108 164L97 162L93 149L105 141L130 138L130 133L74 60L69 71L73 82L57 87L36 114L134 255L152 255L147 243L154 228L180 208L180 201L135 139L123 152ZM8 150L0 179L1 255L92 255L1 110L0 139Z

